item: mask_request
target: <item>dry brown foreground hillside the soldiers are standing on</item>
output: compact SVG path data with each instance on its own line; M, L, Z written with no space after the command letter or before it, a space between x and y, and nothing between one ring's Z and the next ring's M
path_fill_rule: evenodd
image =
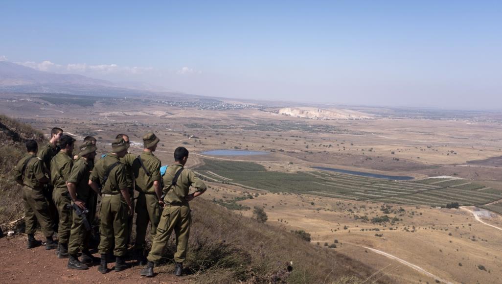
M2 131L0 132L0 225L6 231L6 223L13 216L23 215L20 188L12 183L10 172L17 160L22 156L22 142L36 137L42 142L42 136L30 126L16 122L7 117L0 117ZM212 189L209 188L208 192ZM252 218L243 217L225 208L214 206L214 203L197 199L192 204L193 229L190 234L189 252L186 262L188 276L182 281L201 283L359 283L376 271L361 262L338 253L336 250L315 246L304 240L300 235L291 233L285 227L259 223ZM12 229L12 228L9 228ZM23 281L21 274L12 274L12 266L33 253L24 248L22 232L17 235L0 239L3 259L11 259L0 269L0 278L13 281ZM40 236L39 236L40 238ZM67 270L64 263L48 259L42 247L33 250L40 257L33 263L37 282L52 282L53 271L57 271L58 280L74 282L75 280L98 282L102 275L95 269L85 271ZM169 243L167 259L173 257L174 244ZM61 262L61 263L60 263ZM288 263L293 263L293 270L287 271ZM19 263L21 264L21 263ZM53 269L43 267L57 265ZM24 265L21 265L24 267ZM38 267L40 266L40 267ZM11 268L9 268L11 267ZM156 268L160 273L158 281L172 281L174 265L169 261ZM16 268L17 269L17 268ZM27 269L19 268L19 269ZM16 271L21 271L16 270ZM139 276L139 266L122 273L109 273L110 281L142 282L145 278ZM27 271L28 272L28 271ZM24 274L24 273L22 273ZM393 279L385 274L375 274L371 280L381 277L378 282L392 283ZM124 278L124 276L127 276Z

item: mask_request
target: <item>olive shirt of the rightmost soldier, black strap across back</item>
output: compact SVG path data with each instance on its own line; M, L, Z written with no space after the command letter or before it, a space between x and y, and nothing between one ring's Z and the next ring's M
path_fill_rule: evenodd
M176 185L172 185L173 178L178 170L182 170L176 181ZM196 188L197 192L205 192L206 184L198 178L193 171L183 168L183 166L174 164L167 167L166 174L163 177L163 191L167 194L164 198L166 203L185 203L185 197L188 195L190 186Z

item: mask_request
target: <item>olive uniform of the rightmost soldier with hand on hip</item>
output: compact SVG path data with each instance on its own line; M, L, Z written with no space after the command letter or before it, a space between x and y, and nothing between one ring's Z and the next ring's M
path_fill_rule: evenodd
M178 177L176 185L172 185L172 180L178 170L182 170L182 172ZM190 206L185 197L188 195L190 186L195 187L197 192L204 192L206 185L191 170L184 169L178 164L167 168L163 180L163 191L167 191L164 198L166 207L162 212L159 226L157 227L157 235L153 241L152 249L148 254L148 260L155 262L162 258L162 251L174 230L177 246L174 260L176 262L183 262L186 257L191 224Z

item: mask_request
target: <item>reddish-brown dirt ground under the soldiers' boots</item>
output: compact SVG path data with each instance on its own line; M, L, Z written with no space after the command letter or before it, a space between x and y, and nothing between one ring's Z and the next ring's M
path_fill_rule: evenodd
M37 236L37 239L41 239ZM94 254L98 256L97 254ZM184 283L190 276L172 275L172 267L156 268L167 270L153 278L140 276L141 266L134 266L121 272L110 271L101 274L97 266L88 270L70 270L66 268L68 259L58 259L54 250L45 250L44 246L26 248L26 237L16 235L0 239L0 282L2 283ZM113 267L108 264L108 268Z

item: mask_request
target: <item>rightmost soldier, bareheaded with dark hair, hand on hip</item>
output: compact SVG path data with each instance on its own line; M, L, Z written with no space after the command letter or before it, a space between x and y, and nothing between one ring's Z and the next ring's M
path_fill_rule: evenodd
M188 159L188 150L185 147L178 147L174 151L175 163L167 168L163 177L166 194L164 202L166 206L157 227L157 235L152 244L152 249L148 254L147 267L141 270L143 276L154 276L154 262L162 258L162 251L174 230L176 234L176 253L174 260L176 267L174 274L180 276L183 270L183 262L186 257L188 237L190 234L190 206L189 202L206 191L206 185L195 174L183 168ZM193 194L188 194L190 186L196 188Z

